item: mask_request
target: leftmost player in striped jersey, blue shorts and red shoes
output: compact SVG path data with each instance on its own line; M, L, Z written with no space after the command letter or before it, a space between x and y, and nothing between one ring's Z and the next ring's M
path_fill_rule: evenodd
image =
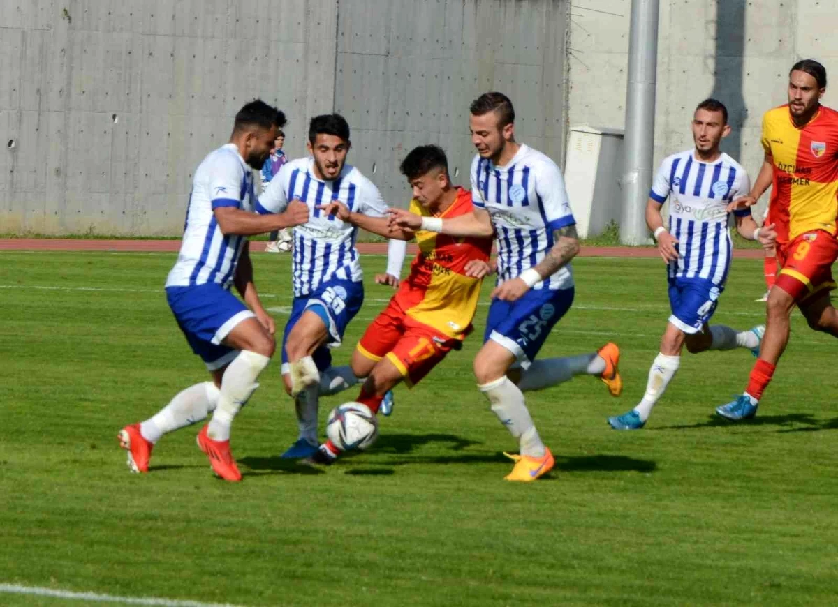
M241 480L230 454L230 425L258 387L256 379L276 347L273 319L253 284L246 236L308 220L303 203L289 204L281 215L254 213L251 168L261 169L277 129L284 125L281 111L258 100L248 103L235 115L230 143L211 152L195 171L184 241L166 280L166 298L213 381L186 388L153 418L119 432L134 472L148 471L153 445L160 437L214 412L198 435L198 445L218 476ZM230 293L230 285L235 285L244 304Z

